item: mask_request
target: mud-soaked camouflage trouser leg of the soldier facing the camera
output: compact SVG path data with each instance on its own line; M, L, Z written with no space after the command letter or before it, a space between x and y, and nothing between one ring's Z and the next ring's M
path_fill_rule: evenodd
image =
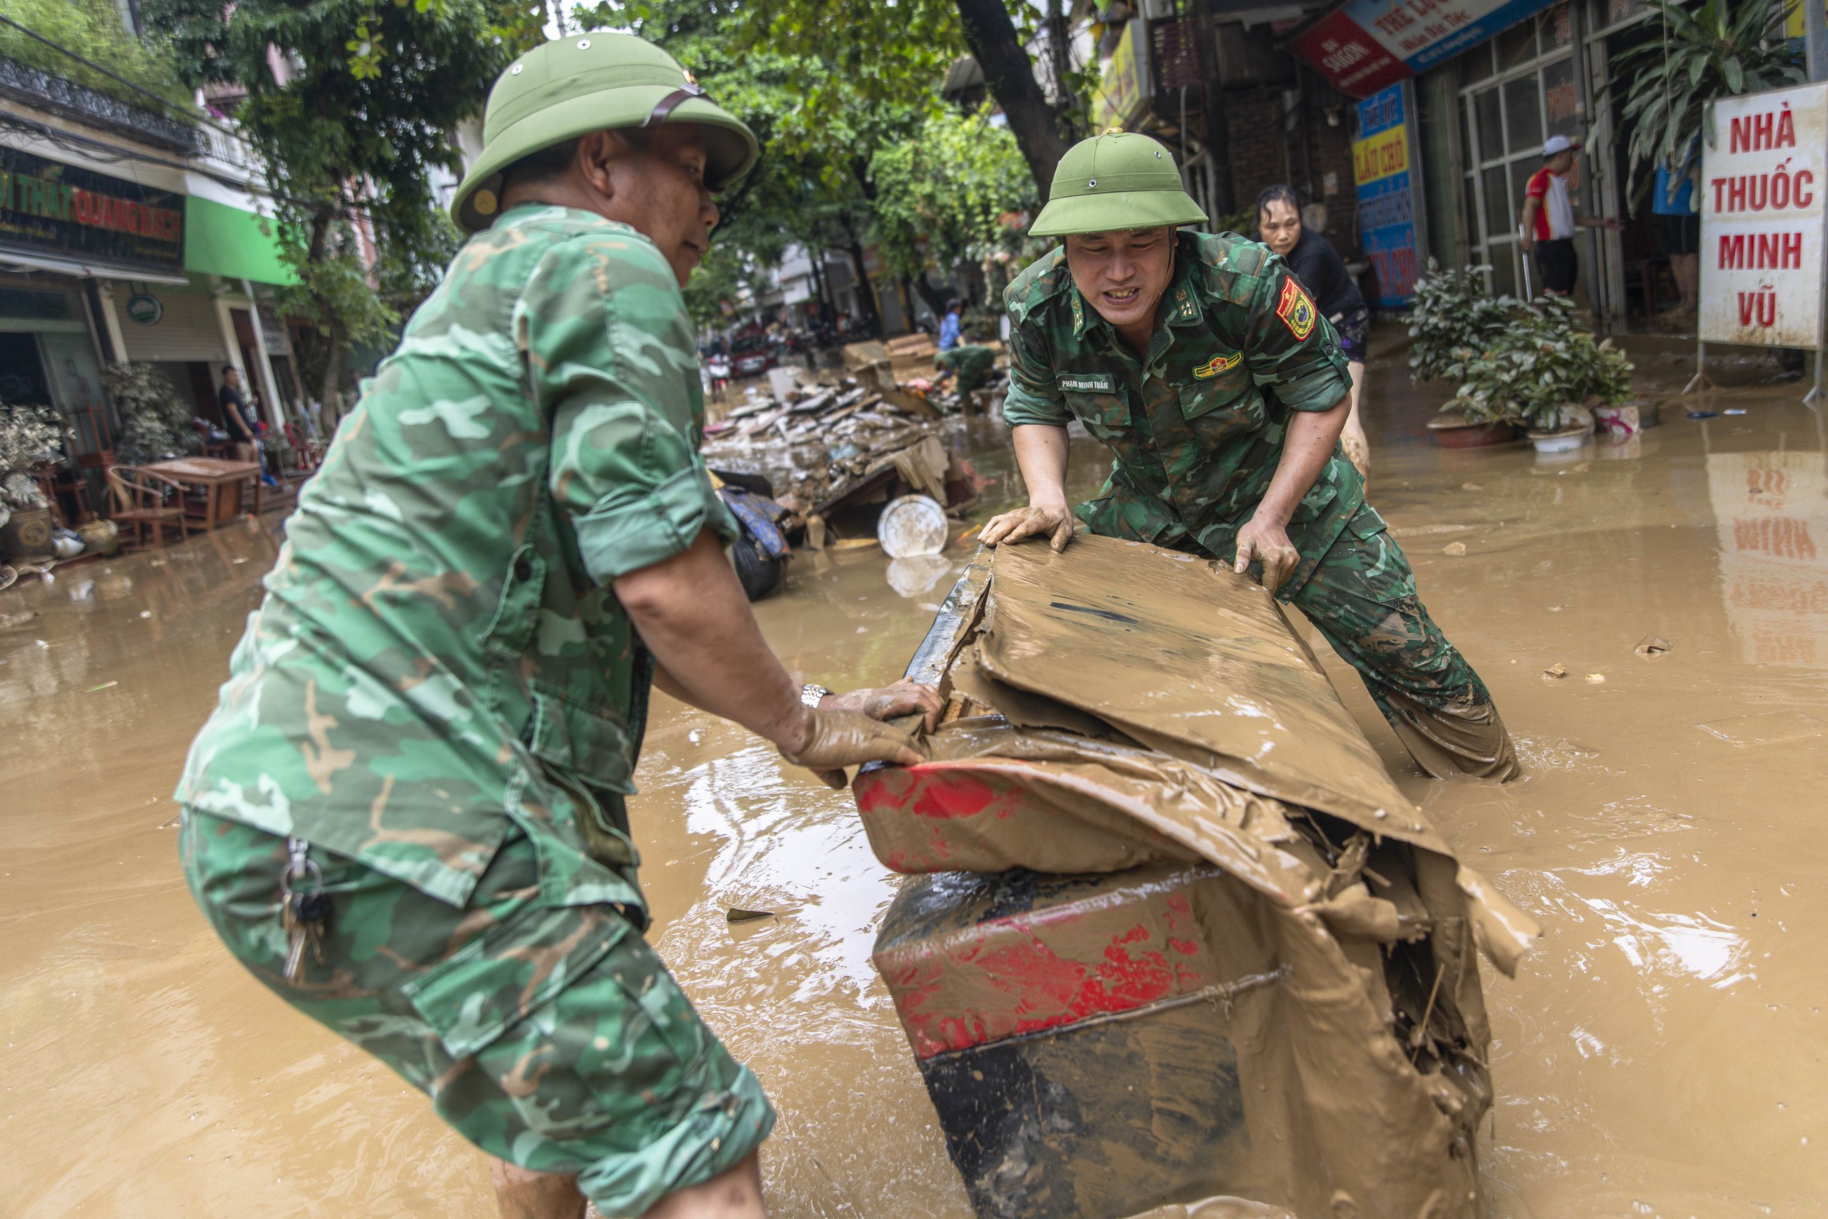
M1292 603L1358 671L1424 771L1435 779L1519 773L1492 694L1428 616L1409 559L1375 512L1358 510Z

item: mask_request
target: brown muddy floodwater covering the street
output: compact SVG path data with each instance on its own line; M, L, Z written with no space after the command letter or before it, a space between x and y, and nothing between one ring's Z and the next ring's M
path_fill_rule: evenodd
M1433 448L1428 404L1371 373L1371 499L1525 768L1424 779L1316 638L1402 788L1546 928L1515 981L1486 978L1493 1215L1823 1214L1828 457L1799 395L1665 406L1642 440L1546 462ZM1000 429L969 442L989 499L1016 493ZM1080 442L1075 490L1099 477ZM0 629L4 1215L494 1215L481 1155L254 983L177 872L168 797L274 528L0 594L37 610ZM967 557L795 559L757 614L804 680L888 682ZM1653 634L1669 651L1638 654ZM653 939L781 1108L773 1214L969 1215L870 969L896 877L848 797L660 694L638 782Z

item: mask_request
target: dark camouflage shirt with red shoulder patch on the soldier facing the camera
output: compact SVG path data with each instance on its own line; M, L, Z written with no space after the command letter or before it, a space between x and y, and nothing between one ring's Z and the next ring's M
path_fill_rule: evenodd
M1077 514L1095 534L1230 559L1281 461L1289 411L1351 393L1340 340L1276 254L1232 234L1179 232L1175 269L1139 360L1073 287L1066 250L1009 285L1004 422L1079 419L1117 461ZM1334 448L1289 521L1302 565L1292 598L1364 506L1364 481Z

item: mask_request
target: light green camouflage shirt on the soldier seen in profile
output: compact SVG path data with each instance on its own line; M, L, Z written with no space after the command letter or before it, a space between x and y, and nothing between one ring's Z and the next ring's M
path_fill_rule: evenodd
M653 663L609 581L735 525L660 250L519 207L464 245L298 497L177 799L462 905L510 824L640 912Z

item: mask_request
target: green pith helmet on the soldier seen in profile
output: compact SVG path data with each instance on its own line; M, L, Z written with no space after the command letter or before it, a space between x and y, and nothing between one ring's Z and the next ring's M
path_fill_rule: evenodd
M755 132L645 38L596 29L536 46L488 91L483 155L452 199L452 219L464 232L488 228L501 208L501 172L521 157L587 132L662 122L696 122L704 132L711 190L729 186L760 155Z

